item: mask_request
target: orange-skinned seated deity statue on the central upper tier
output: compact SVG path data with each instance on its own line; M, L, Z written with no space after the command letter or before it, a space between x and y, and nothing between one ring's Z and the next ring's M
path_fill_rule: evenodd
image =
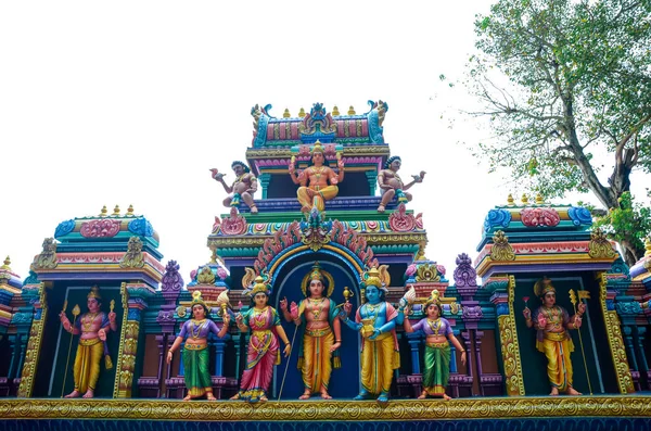
M317 140L311 150L311 166L296 175L295 161L292 157L289 172L292 181L299 185L296 195L302 205L301 211L309 213L312 205L319 211L326 208L326 201L334 199L339 193L337 183L344 180L344 161L337 153L339 174L335 174L329 166L323 166L326 154L321 142Z

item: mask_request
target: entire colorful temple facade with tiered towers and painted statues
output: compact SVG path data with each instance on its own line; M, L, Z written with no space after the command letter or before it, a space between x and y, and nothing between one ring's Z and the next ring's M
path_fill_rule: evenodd
M425 172L398 176L387 110L254 106L187 282L132 207L61 223L24 281L8 257L2 423L648 429L651 243L629 269L586 208L509 197L450 274L425 257L408 206L426 185L406 191Z

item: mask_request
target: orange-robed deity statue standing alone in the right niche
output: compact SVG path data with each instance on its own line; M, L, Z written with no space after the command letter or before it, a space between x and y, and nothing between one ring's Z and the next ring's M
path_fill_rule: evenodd
M526 327L537 330L536 348L547 356L547 377L551 385L549 394L556 396L559 392L565 392L567 395L580 395L580 392L572 388L570 353L574 352L574 343L569 330L580 328L586 304L578 304L578 310L570 317L565 308L556 305L556 289L547 277L534 284L534 293L542 305L534 312L533 319L528 307L525 306L522 314Z

